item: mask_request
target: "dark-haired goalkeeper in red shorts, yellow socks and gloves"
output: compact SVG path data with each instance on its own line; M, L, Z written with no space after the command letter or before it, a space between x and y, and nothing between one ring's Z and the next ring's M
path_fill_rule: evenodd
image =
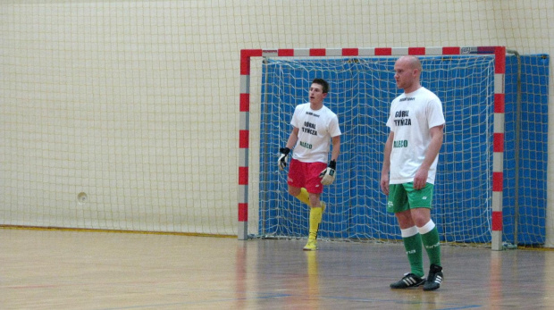
M310 206L309 235L307 251L317 249L317 230L322 221L325 203L320 201L323 185L331 185L335 180L337 158L340 153L339 118L328 107L323 99L329 92L326 80L315 79L309 89L310 102L297 105L292 115L287 145L281 148L279 169L287 166L290 150L294 147L290 160L289 194ZM331 161L327 164L332 143Z

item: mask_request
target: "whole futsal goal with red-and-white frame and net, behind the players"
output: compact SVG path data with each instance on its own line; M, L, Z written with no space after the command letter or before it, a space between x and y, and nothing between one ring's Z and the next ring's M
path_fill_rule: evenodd
M441 240L502 249L504 46L242 50L239 239L306 238L309 210L289 196L276 162L315 78L329 81L324 104L342 130L338 177L322 194L321 238L400 239L379 180L385 122L400 92L393 66L404 54L420 57L422 85L441 98L446 119L432 209Z

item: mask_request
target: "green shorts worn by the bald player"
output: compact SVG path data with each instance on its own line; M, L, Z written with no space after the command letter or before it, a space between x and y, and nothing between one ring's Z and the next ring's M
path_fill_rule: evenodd
M414 183L390 184L387 212L396 214L414 208L429 208L432 204L434 185L425 184L423 189L414 189Z

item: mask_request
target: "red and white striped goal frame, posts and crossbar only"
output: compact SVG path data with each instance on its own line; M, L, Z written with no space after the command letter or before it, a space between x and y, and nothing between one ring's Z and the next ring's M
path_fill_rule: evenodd
M494 132L492 157L492 233L491 248L502 249L502 190L504 160L504 76L505 46L440 47L359 47L359 48L281 48L243 49L240 51L240 123L239 123L239 240L248 239L248 140L250 112L251 57L324 57L324 56L401 56L441 54L494 54Z

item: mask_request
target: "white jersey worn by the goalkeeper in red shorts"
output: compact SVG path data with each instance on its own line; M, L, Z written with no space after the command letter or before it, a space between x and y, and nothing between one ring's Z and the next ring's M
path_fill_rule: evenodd
M298 141L292 158L304 163L327 163L331 138L340 136L339 118L323 105L312 110L310 104L297 105L290 124L298 128Z

